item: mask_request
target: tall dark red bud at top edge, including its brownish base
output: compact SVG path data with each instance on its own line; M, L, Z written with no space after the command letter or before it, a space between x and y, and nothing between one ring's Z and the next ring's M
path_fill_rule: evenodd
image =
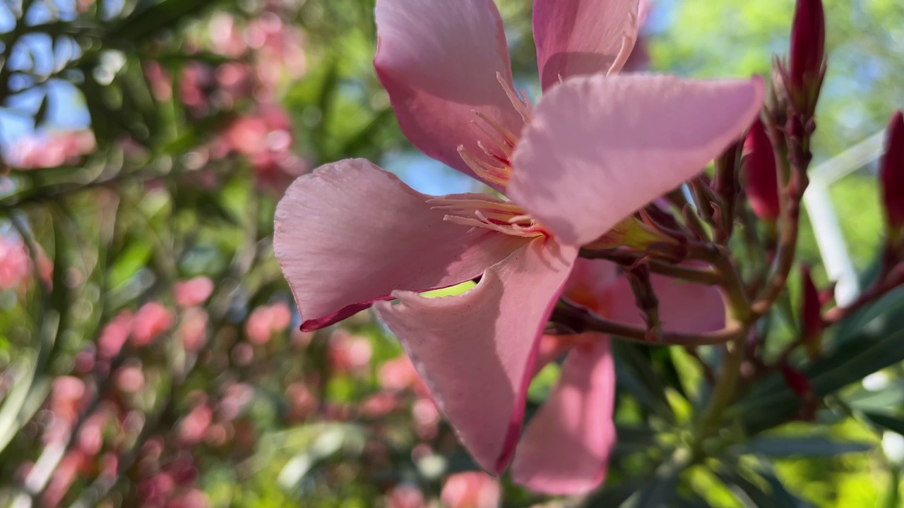
M812 116L824 75L825 14L822 0L797 0L788 60L786 86L793 105L796 112Z

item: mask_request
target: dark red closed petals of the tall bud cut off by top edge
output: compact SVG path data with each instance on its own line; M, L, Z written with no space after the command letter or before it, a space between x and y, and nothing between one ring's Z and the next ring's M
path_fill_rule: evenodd
M825 58L825 14L822 0L797 0L791 25L791 56L788 85L809 88L823 69Z

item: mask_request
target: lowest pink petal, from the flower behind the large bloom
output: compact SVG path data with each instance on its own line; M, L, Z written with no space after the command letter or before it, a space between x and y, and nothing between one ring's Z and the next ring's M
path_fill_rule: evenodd
M516 483L546 494L584 494L606 477L616 442L615 366L598 336L569 353L559 383L524 430L515 451Z

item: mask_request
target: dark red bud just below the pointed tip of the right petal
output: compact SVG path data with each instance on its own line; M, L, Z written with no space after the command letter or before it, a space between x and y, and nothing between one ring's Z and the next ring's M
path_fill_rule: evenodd
M762 221L775 222L781 212L778 201L776 154L759 118L753 122L744 143L744 192L750 207Z

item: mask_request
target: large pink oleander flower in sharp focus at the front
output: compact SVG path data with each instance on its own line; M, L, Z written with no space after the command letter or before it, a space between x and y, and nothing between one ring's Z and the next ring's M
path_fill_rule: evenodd
M737 140L763 83L617 76L636 40L636 0L536 0L545 94L532 108L514 91L492 0L378 0L376 20L374 65L403 132L511 201L428 196L367 161L341 161L289 187L274 249L302 329L373 306L476 463L498 474L579 249ZM418 294L475 278L459 296ZM595 485L587 474L514 478L577 493Z

